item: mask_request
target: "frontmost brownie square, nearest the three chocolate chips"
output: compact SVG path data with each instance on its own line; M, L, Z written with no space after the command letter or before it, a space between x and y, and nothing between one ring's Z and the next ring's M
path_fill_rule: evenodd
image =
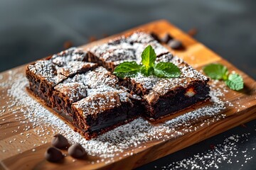
M139 116L139 113L132 117L128 115L131 105L127 102L128 98L119 92L96 92L94 95L72 104L78 131L85 138L95 137Z

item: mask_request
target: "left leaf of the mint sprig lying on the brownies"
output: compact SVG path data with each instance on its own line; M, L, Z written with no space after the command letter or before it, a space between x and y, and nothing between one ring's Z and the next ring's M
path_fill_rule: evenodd
M114 69L113 74L122 78L134 77L141 69L142 65L139 65L136 62L122 62Z

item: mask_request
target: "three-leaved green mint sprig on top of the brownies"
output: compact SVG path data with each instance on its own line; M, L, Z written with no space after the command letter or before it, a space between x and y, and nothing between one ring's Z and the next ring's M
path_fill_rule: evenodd
M151 47L147 46L142 52L142 64L136 62L122 62L114 69L114 74L117 77L135 77L139 72L144 76L149 77L155 75L162 78L174 78L181 75L180 69L171 62L159 62L156 61L156 52Z

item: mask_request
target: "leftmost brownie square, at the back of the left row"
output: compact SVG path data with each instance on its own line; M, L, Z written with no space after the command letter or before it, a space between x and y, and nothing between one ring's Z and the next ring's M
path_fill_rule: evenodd
M87 53L73 47L29 64L26 68L26 77L30 91L43 99L47 106L51 106L50 96L54 86L68 77L97 67L97 64L86 61Z

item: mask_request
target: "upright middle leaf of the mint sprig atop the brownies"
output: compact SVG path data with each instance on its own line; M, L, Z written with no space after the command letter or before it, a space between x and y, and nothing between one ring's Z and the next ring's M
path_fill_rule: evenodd
M145 50L142 52L142 64L146 69L154 66L154 62L156 61L156 52L151 47L151 45L147 46Z

